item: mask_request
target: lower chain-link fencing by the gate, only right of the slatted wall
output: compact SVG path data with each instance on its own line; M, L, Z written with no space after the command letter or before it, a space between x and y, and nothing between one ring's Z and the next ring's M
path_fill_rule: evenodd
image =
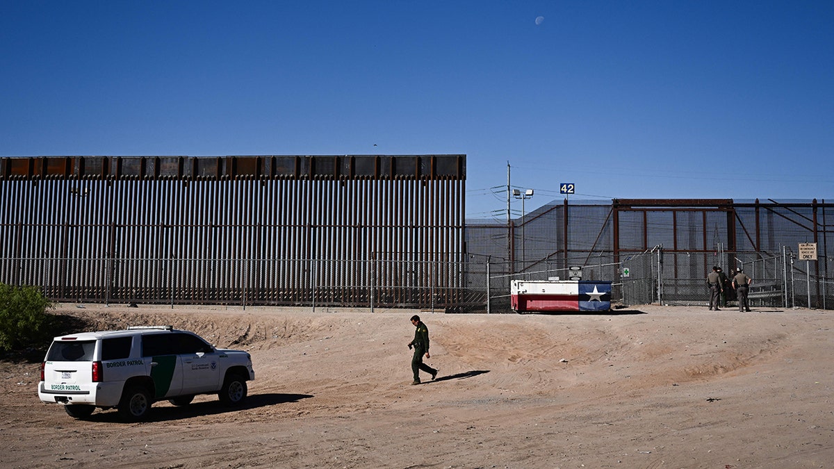
M612 281L612 305L631 306L709 305L710 291L706 274L719 266L727 275L722 304L736 307L736 290L731 287L736 267L741 266L753 280L748 300L753 308L811 307L829 309L834 306L831 280L808 275L813 262L796 260L787 248L780 255L717 251L668 252L658 245L620 263L577 265L568 269L535 270L506 274L505 263L479 264L478 277L488 275L489 295L485 298L490 312L510 312L510 280L608 280ZM488 266L488 267L485 267ZM470 269L473 265L470 265ZM473 305L475 308L475 305ZM477 309L477 308L475 308Z

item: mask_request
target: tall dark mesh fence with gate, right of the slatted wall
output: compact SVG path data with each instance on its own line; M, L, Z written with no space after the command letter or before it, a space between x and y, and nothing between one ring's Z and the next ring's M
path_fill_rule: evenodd
M512 279L564 280L575 268L597 275L589 280L611 281L612 304L707 305L712 266L729 275L743 265L753 278L752 305L832 308L831 208L816 199L565 199L505 224L469 220L466 243L469 253L480 253L470 258L493 261L490 299L499 304ZM818 260L797 259L803 243L817 246ZM727 293L734 305L735 291Z

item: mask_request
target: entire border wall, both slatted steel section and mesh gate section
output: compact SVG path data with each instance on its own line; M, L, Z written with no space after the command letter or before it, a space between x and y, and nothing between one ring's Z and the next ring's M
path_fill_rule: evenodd
M0 158L0 282L52 300L510 311L510 280L706 305L834 307L834 204L614 199L465 220L465 155ZM798 245L816 245L801 260Z

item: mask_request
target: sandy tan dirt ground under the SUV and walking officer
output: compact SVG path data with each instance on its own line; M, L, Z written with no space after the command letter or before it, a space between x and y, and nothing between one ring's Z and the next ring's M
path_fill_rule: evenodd
M834 314L646 305L594 315L59 305L94 329L171 324L249 350L217 396L76 421L38 361L0 361L2 467L831 467Z

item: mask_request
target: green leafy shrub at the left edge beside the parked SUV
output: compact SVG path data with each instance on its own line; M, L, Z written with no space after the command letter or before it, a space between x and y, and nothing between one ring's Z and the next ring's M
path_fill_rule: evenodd
M52 306L36 287L0 284L0 351L43 345Z

